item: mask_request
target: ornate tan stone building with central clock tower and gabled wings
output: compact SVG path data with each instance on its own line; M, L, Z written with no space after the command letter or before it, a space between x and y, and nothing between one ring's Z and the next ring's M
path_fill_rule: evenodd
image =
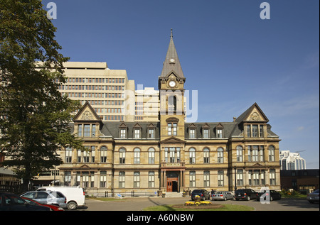
M158 77L158 121L107 121L85 101L70 127L87 150L60 150L60 185L89 194L280 190L280 140L262 109L255 103L230 122L187 123L186 78L171 33Z

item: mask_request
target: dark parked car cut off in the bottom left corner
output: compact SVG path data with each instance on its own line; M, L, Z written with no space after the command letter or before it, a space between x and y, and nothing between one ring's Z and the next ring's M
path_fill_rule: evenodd
M17 194L0 192L0 211L52 211L52 209L28 204Z

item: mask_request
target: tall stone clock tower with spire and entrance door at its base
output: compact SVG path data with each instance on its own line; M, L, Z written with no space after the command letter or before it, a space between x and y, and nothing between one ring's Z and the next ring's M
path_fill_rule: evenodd
M169 48L159 77L161 190L164 192L180 192L185 187L185 81L171 29Z

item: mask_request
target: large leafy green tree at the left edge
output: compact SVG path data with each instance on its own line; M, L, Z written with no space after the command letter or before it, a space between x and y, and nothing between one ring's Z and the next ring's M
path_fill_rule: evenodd
M0 0L0 153L23 191L38 172L62 162L59 148L83 149L68 126L80 103L58 91L68 58L58 53L46 14L40 0Z

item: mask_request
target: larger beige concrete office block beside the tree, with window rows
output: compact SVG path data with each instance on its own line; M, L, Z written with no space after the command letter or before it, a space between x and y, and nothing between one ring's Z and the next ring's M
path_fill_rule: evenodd
M67 82L60 86L70 99L90 103L102 121L134 121L134 80L107 62L65 62Z

